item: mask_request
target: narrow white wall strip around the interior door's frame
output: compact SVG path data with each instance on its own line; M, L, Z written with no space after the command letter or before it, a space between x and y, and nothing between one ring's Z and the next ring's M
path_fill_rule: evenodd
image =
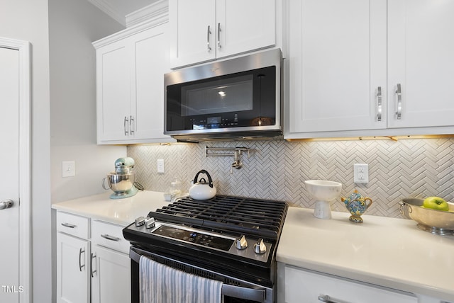
M31 42L33 299L51 302L47 0L0 0L0 36Z

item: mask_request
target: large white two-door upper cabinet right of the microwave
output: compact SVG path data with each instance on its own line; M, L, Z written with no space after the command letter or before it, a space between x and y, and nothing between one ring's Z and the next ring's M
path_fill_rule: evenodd
M452 133L453 14L452 1L289 0L284 137Z

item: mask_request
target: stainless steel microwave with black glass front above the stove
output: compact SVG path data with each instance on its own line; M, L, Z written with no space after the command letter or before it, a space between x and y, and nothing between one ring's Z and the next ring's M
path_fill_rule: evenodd
M282 53L165 74L164 133L180 142L282 138Z

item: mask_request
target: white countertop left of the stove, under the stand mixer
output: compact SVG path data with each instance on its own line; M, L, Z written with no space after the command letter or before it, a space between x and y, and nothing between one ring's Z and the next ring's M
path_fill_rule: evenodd
M100 195L55 203L52 208L126 226L135 218L145 217L148 212L170 203L164 200L164 193L155 191L139 190L133 197L124 199L110 199L111 193L109 190Z

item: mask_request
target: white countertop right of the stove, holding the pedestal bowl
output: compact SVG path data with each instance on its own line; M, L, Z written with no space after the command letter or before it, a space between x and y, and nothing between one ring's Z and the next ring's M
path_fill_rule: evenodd
M317 219L314 210L289 207L277 261L416 295L454 301L454 237L416 227L410 219L348 212Z

